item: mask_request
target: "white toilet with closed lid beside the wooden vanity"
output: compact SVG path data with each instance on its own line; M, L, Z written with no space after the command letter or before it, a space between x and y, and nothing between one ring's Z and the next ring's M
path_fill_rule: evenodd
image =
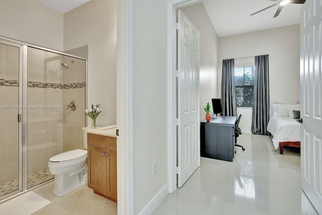
M92 126L84 127L84 148L87 149L87 130ZM55 186L52 190L56 196L67 193L87 184L87 150L72 150L51 157L48 162L51 174L55 175Z

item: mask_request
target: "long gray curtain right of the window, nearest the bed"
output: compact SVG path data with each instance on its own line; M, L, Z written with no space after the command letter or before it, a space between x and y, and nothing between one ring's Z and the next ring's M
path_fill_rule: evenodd
M255 56L252 133L268 135L269 120L269 63L268 54Z

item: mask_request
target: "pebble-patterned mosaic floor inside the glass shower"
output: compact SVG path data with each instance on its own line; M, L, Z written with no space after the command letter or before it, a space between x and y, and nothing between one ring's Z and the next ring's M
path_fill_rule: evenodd
M55 176L49 172L49 169L39 170L28 175L28 189L48 181ZM6 195L12 191L18 190L18 180L9 181L0 185L0 196Z

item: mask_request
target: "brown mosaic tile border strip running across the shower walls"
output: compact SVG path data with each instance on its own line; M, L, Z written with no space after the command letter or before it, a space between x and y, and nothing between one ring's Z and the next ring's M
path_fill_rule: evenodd
M8 87L18 87L19 82L16 80L5 80L0 79L0 86L8 86ZM79 83L71 83L71 84L55 84L55 83L42 83L42 82L28 82L28 87L31 88L54 88L54 89L77 89L77 88L85 88L85 82Z

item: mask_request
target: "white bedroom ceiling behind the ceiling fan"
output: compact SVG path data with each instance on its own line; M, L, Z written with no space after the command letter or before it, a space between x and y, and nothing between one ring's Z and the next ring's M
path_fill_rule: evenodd
M278 17L274 6L254 16L251 14L275 4L268 0L204 0L203 4L218 37L300 23L303 4L284 6Z

